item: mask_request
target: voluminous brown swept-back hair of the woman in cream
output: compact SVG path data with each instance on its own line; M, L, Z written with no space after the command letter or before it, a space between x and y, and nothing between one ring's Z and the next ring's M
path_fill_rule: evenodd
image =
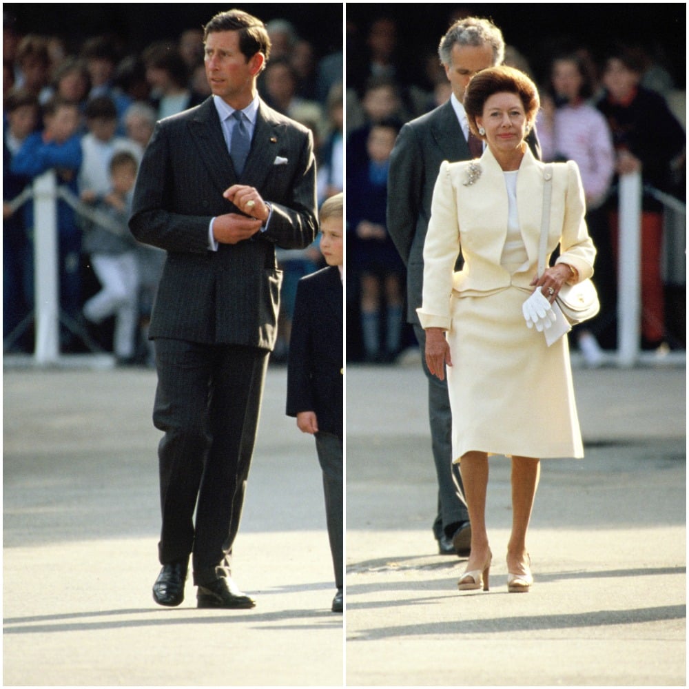
M486 101L496 93L513 93L520 97L526 121L531 125L541 107L535 83L513 67L491 67L471 79L464 92L464 110L473 134L480 136L476 118L483 115Z

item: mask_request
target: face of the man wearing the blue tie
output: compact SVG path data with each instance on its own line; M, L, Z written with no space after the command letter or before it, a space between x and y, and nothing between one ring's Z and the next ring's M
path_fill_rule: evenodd
M206 78L212 93L232 107L246 107L249 104L244 101L253 98L254 78L260 72L263 61L260 52L247 60L239 49L239 33L236 31L208 34L205 43Z

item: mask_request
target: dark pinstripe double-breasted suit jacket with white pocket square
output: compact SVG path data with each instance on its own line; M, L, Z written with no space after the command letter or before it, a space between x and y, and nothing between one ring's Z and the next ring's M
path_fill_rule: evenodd
M280 164L276 164L276 158ZM316 163L306 127L261 102L238 178L209 98L166 118L146 149L134 192L132 234L167 251L149 335L272 349L279 291L275 246L307 247L316 236ZM212 217L240 212L222 194L240 183L271 203L266 232L208 249Z

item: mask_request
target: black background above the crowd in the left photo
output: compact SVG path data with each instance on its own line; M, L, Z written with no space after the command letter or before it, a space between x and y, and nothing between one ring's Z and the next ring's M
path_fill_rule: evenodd
M76 48L88 37L115 34L135 52L234 7L263 21L288 19L318 56L342 48L342 3L3 3L3 12L17 19L21 33L60 36Z

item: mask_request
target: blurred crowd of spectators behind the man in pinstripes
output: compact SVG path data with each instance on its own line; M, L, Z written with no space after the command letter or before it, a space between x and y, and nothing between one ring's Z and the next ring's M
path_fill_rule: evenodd
M267 29L272 49L260 94L313 131L320 205L344 183L342 52L316 54L287 20ZM164 255L130 240L133 180L125 178L136 174L156 121L210 95L203 32L189 28L143 50L110 35L74 40L21 33L3 13L3 350L34 345L33 204L11 202L54 169L80 204L75 211L58 203L61 351L95 342L122 364L150 363L147 319ZM287 353L296 282L321 260L316 247L278 254L278 359Z

